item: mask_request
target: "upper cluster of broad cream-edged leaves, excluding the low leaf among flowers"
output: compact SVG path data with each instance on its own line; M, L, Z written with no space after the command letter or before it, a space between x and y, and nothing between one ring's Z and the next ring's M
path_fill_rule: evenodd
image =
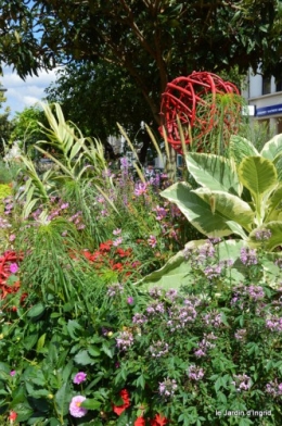
M282 245L282 135L258 152L246 139L233 136L230 158L191 152L185 161L200 185L177 183L162 192L191 224L207 237L239 235L248 246L268 251Z

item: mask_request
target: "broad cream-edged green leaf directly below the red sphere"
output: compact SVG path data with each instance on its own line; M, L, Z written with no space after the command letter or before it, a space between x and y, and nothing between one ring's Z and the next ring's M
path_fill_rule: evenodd
M189 172L197 184L216 191L242 192L235 163L223 156L191 152L185 156Z

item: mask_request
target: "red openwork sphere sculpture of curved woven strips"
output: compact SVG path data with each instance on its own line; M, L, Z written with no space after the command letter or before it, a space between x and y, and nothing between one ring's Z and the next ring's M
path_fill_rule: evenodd
M229 106L228 102L220 102L220 96L227 93L230 93L231 98L233 96L235 109L229 108L230 102ZM241 110L238 99L238 88L216 74L193 72L188 77L178 77L168 83L162 96L161 115L164 124L159 127L159 133L163 137L166 134L168 142L182 153L180 124L185 145L191 143L193 134L193 143L195 142L201 151L201 139L217 127L219 122L222 124L223 120L225 126L232 130L238 126L238 113Z

